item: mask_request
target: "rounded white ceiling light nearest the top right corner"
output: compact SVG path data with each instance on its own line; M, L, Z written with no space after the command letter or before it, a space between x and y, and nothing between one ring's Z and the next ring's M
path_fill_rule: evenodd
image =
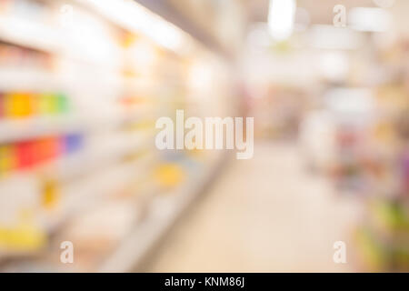
M389 11L374 7L356 7L348 13L348 24L358 31L384 32L392 26Z

